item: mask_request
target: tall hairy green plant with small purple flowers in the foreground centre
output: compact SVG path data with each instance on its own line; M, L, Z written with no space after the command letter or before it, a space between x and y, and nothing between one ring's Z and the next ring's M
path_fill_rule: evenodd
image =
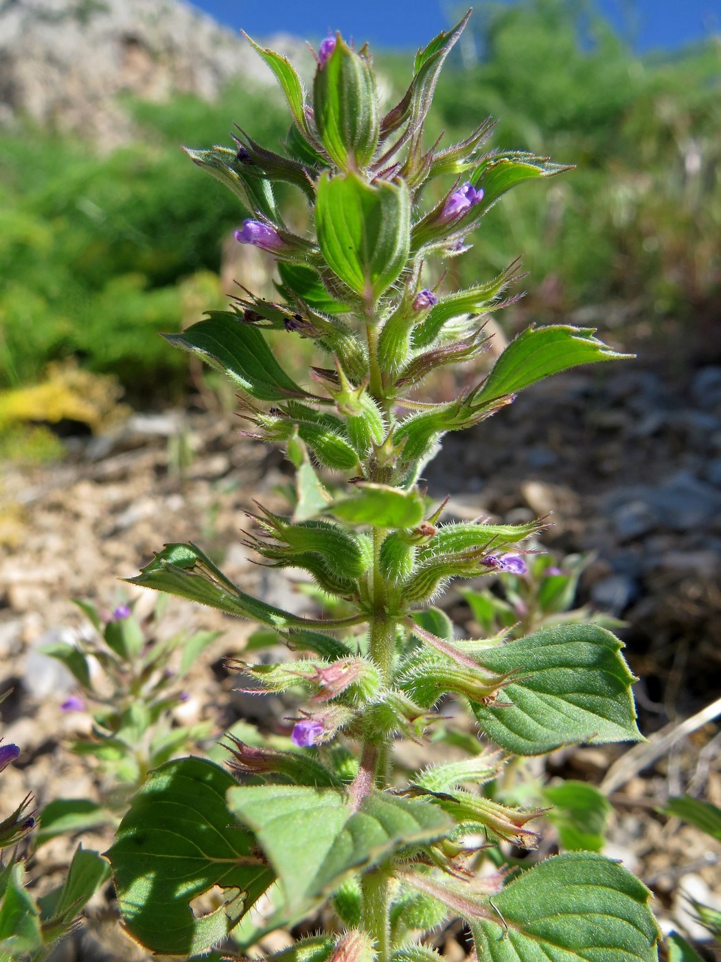
M482 366L485 315L503 307L518 262L464 291L437 281L433 259L462 253L504 193L567 169L480 153L487 122L460 144L427 148L438 72L466 19L418 53L407 92L383 117L365 48L326 38L309 99L286 59L254 44L286 95L287 156L242 130L237 152L188 151L236 193L238 218L250 214L240 240L276 255L279 300L243 291L234 311L168 340L223 371L256 436L285 446L291 503L261 506L245 543L264 565L305 570L323 611L295 615L247 594L194 544L166 545L131 579L258 622L249 653L284 643L293 656L230 667L250 690L298 701L268 738L249 724L242 737L229 734L233 775L200 758L170 762L135 797L109 855L125 924L155 952L211 949L242 920L243 954L262 932L329 919L318 912L332 899L347 933L274 957L435 962L420 940L454 917L470 925L479 962L657 957L647 890L595 851L495 871L509 843L535 848L549 803L562 846L601 848L608 803L597 790L539 788L534 805L519 808L502 773L512 754L640 738L621 643L599 625L558 621L543 630L524 621L514 640L492 631L460 639L431 606L454 579L502 574L522 584L547 523L444 515L445 493L427 492L420 477L443 435L549 375L628 356L559 324L530 328ZM309 201L297 233L276 207L278 182ZM312 379L292 379L283 365L284 339L292 351L299 338L318 351ZM428 375L460 362L479 365L471 387L445 402L418 394ZM544 617L570 606L575 583L549 575L537 594ZM501 607L515 630L526 595L507 594L468 594L482 632ZM113 641L135 644L120 631ZM84 683L82 657L53 653ZM436 710L454 698L472 734ZM433 737L454 754L392 772L398 737ZM464 860L479 834L484 844ZM225 903L196 917L191 900L213 886ZM259 922L247 913L263 893Z

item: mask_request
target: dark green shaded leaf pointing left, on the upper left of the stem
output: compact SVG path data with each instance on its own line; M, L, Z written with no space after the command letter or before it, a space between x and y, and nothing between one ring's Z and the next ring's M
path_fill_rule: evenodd
M174 347L197 354L261 401L312 396L287 376L261 331L230 312L211 311L208 320L192 324L181 334L163 337Z

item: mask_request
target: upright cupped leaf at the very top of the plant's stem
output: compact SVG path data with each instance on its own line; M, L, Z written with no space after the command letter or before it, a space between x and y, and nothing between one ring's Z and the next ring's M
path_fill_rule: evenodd
M315 71L313 112L326 150L344 170L368 165L378 144L378 94L370 63L344 42Z

